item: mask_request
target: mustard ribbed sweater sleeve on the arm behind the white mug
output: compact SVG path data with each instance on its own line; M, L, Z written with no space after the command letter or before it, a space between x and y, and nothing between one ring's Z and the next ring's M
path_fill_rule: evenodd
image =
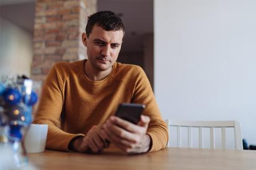
M64 101L65 77L61 72L61 63L50 70L42 88L35 124L48 124L46 148L68 150L72 138L82 134L69 134L60 129L60 117Z

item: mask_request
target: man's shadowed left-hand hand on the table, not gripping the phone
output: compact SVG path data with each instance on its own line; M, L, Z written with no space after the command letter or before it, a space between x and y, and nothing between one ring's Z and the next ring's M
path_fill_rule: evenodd
M105 142L106 138L102 129L94 125L85 137L74 138L69 145L72 150L77 152L100 153L104 148L109 147L109 143Z

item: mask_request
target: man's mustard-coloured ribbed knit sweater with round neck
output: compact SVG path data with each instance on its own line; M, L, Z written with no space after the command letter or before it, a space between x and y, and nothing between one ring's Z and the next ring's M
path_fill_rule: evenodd
M143 69L115 62L104 80L92 81L84 74L85 62L59 62L46 77L34 119L35 124L48 124L46 148L68 151L74 137L104 124L120 103L145 104L143 114L151 119L147 132L152 139L150 151L166 147L167 126Z

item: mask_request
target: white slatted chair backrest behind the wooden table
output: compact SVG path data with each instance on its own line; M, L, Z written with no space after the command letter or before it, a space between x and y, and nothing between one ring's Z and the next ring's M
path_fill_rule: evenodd
M170 127L177 127L177 146L182 148L182 130L181 127L187 127L188 148L192 148L192 127L198 128L199 148L203 148L203 128L210 128L210 148L215 147L214 129L221 128L221 147L226 148L226 127L234 128L234 143L237 150L242 150L241 125L237 121L172 121L167 119L166 124L170 134ZM171 135L167 147L170 147Z

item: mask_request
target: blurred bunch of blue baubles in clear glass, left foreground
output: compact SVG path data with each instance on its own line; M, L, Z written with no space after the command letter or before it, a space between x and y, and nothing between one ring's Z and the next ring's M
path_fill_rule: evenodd
M28 157L24 137L32 123L32 105L37 102L38 96L32 90L32 80L23 77L18 77L15 82L13 80L8 80L7 86L0 82L0 127L6 127L6 141L11 144L11 169L26 169Z

